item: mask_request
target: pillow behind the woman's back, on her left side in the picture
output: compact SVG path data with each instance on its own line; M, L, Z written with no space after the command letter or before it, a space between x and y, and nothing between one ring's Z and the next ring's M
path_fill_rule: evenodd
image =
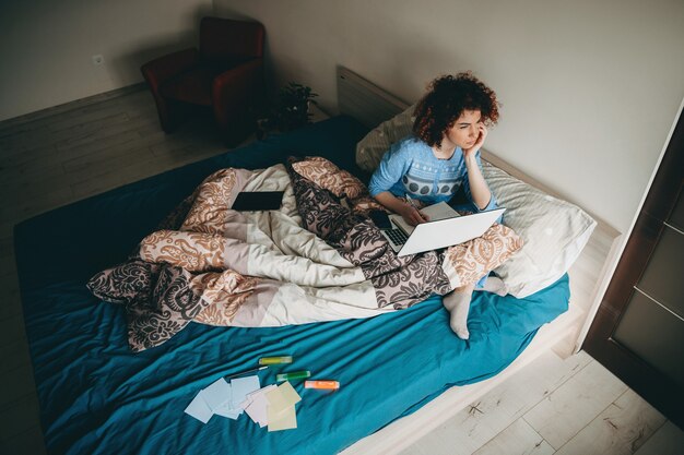
M389 147L411 134L415 117L415 105L380 123L356 144L356 164L373 173Z

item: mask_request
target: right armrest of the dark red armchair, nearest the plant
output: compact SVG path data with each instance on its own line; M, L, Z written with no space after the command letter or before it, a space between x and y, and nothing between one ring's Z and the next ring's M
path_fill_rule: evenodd
M236 117L244 116L249 103L262 94L263 86L261 58L249 60L214 77L212 98L219 123L226 125Z

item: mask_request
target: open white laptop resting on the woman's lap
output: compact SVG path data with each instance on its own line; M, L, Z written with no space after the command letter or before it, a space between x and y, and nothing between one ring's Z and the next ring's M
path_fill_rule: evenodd
M460 216L446 202L421 209L429 220L413 227L401 215L390 215L393 229L381 229L398 256L422 253L467 242L482 236L506 208Z

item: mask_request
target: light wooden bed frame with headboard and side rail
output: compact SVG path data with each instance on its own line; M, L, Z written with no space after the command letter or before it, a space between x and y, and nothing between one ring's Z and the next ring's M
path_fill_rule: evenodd
M338 68L337 80L340 112L359 120L368 128L377 127L410 106L346 68ZM562 194L529 178L484 149L482 158L547 194L565 199ZM416 412L398 419L382 430L364 438L344 450L342 454L398 453L438 428L447 419L477 400L549 349L554 348L564 357L577 352L608 287L622 237L620 231L600 217L591 213L590 215L598 225L580 256L568 272L571 297L569 310L566 313L542 326L518 359L496 376L475 384L451 387Z

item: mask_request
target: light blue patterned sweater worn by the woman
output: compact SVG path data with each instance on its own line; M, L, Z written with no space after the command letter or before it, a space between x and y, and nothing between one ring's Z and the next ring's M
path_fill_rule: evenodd
M476 152L475 158L482 168L480 152ZM390 147L368 183L374 197L389 191L399 197L409 194L427 204L449 201L461 187L474 206L461 148L457 147L449 159L438 159L429 145L413 135ZM496 208L494 195L484 209L492 208Z

